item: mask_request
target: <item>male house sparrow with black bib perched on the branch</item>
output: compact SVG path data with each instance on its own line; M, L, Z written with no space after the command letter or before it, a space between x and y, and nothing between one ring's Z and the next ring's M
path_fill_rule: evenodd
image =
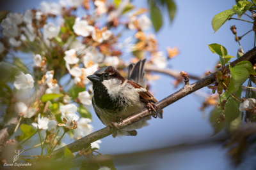
M115 67L102 67L87 78L93 83L92 104L95 113L104 125L116 127L113 122L122 122L138 111L148 107L153 110L157 117L163 118L163 110L156 112L154 103L157 100L145 87L147 82L144 78L144 66L146 59L130 64L127 67L127 79L125 79ZM155 116L156 117L156 116ZM136 124L125 127L115 132L112 136L136 136L135 129L148 125L147 120L141 120ZM117 128L117 127L116 127Z

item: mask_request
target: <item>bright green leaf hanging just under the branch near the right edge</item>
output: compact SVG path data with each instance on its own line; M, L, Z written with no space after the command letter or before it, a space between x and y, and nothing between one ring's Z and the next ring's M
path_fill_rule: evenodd
M229 69L232 75L232 78L230 81L234 83L234 87L238 87L239 85L241 85L241 83L243 83L250 75L247 69L245 69L244 67L239 67L239 66L231 67L229 65Z

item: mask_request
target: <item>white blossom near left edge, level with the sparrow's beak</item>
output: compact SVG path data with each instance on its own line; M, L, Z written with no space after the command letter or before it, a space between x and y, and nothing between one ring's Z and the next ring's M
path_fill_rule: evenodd
M32 89L34 87L34 80L30 74L17 73L15 75L14 87L18 90Z

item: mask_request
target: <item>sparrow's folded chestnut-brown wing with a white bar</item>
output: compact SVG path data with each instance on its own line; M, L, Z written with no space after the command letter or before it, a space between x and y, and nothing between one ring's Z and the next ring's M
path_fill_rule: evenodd
M144 103L157 103L157 100L155 99L150 92L148 92L147 89L143 88L141 85L128 80L128 83L131 84L135 89L137 89L138 94L140 94L140 99Z

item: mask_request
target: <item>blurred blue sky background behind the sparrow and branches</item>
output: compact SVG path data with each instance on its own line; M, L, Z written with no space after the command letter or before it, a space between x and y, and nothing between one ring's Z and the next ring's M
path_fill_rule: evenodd
M29 8L38 8L41 1L10 0L0 1L0 10L19 13ZM53 2L53 1L51 1ZM136 7L148 8L147 0L133 1ZM231 25L236 25L237 35L241 36L252 29L252 24L230 20L214 33L211 20L214 15L232 8L235 1L175 1L177 11L170 24L167 11L164 11L163 27L156 33L159 50L165 51L166 46L177 46L180 53L174 59L168 60L168 67L177 71L186 71L196 76L204 75L205 71L213 71L218 62L218 55L213 54L207 45L218 43L225 46L228 55L237 55L238 43L230 31ZM83 11L81 11L83 13ZM242 17L243 19L244 17ZM246 16L244 19L247 19ZM154 32L150 29L148 32ZM127 32L125 37L130 36ZM244 52L253 48L254 32L241 39ZM121 39L122 40L122 39ZM122 57L121 57L122 59ZM123 60L129 60L125 55ZM233 59L234 60L234 59ZM159 80L150 81L150 90L157 100L161 100L182 88L175 89L173 79L165 74L154 73ZM196 80L189 80L193 83ZM254 169L255 158L246 159L235 167L223 147L225 131L214 134L209 122L209 112L212 108L200 111L205 94L211 90L201 89L180 99L164 109L163 119L152 118L150 125L138 130L137 136L125 136L122 139L108 136L101 139L99 152L111 154L116 169ZM242 95L243 96L243 95ZM95 115L91 108L94 131L105 125ZM65 143L71 143L65 138ZM33 153L31 153L33 154Z

